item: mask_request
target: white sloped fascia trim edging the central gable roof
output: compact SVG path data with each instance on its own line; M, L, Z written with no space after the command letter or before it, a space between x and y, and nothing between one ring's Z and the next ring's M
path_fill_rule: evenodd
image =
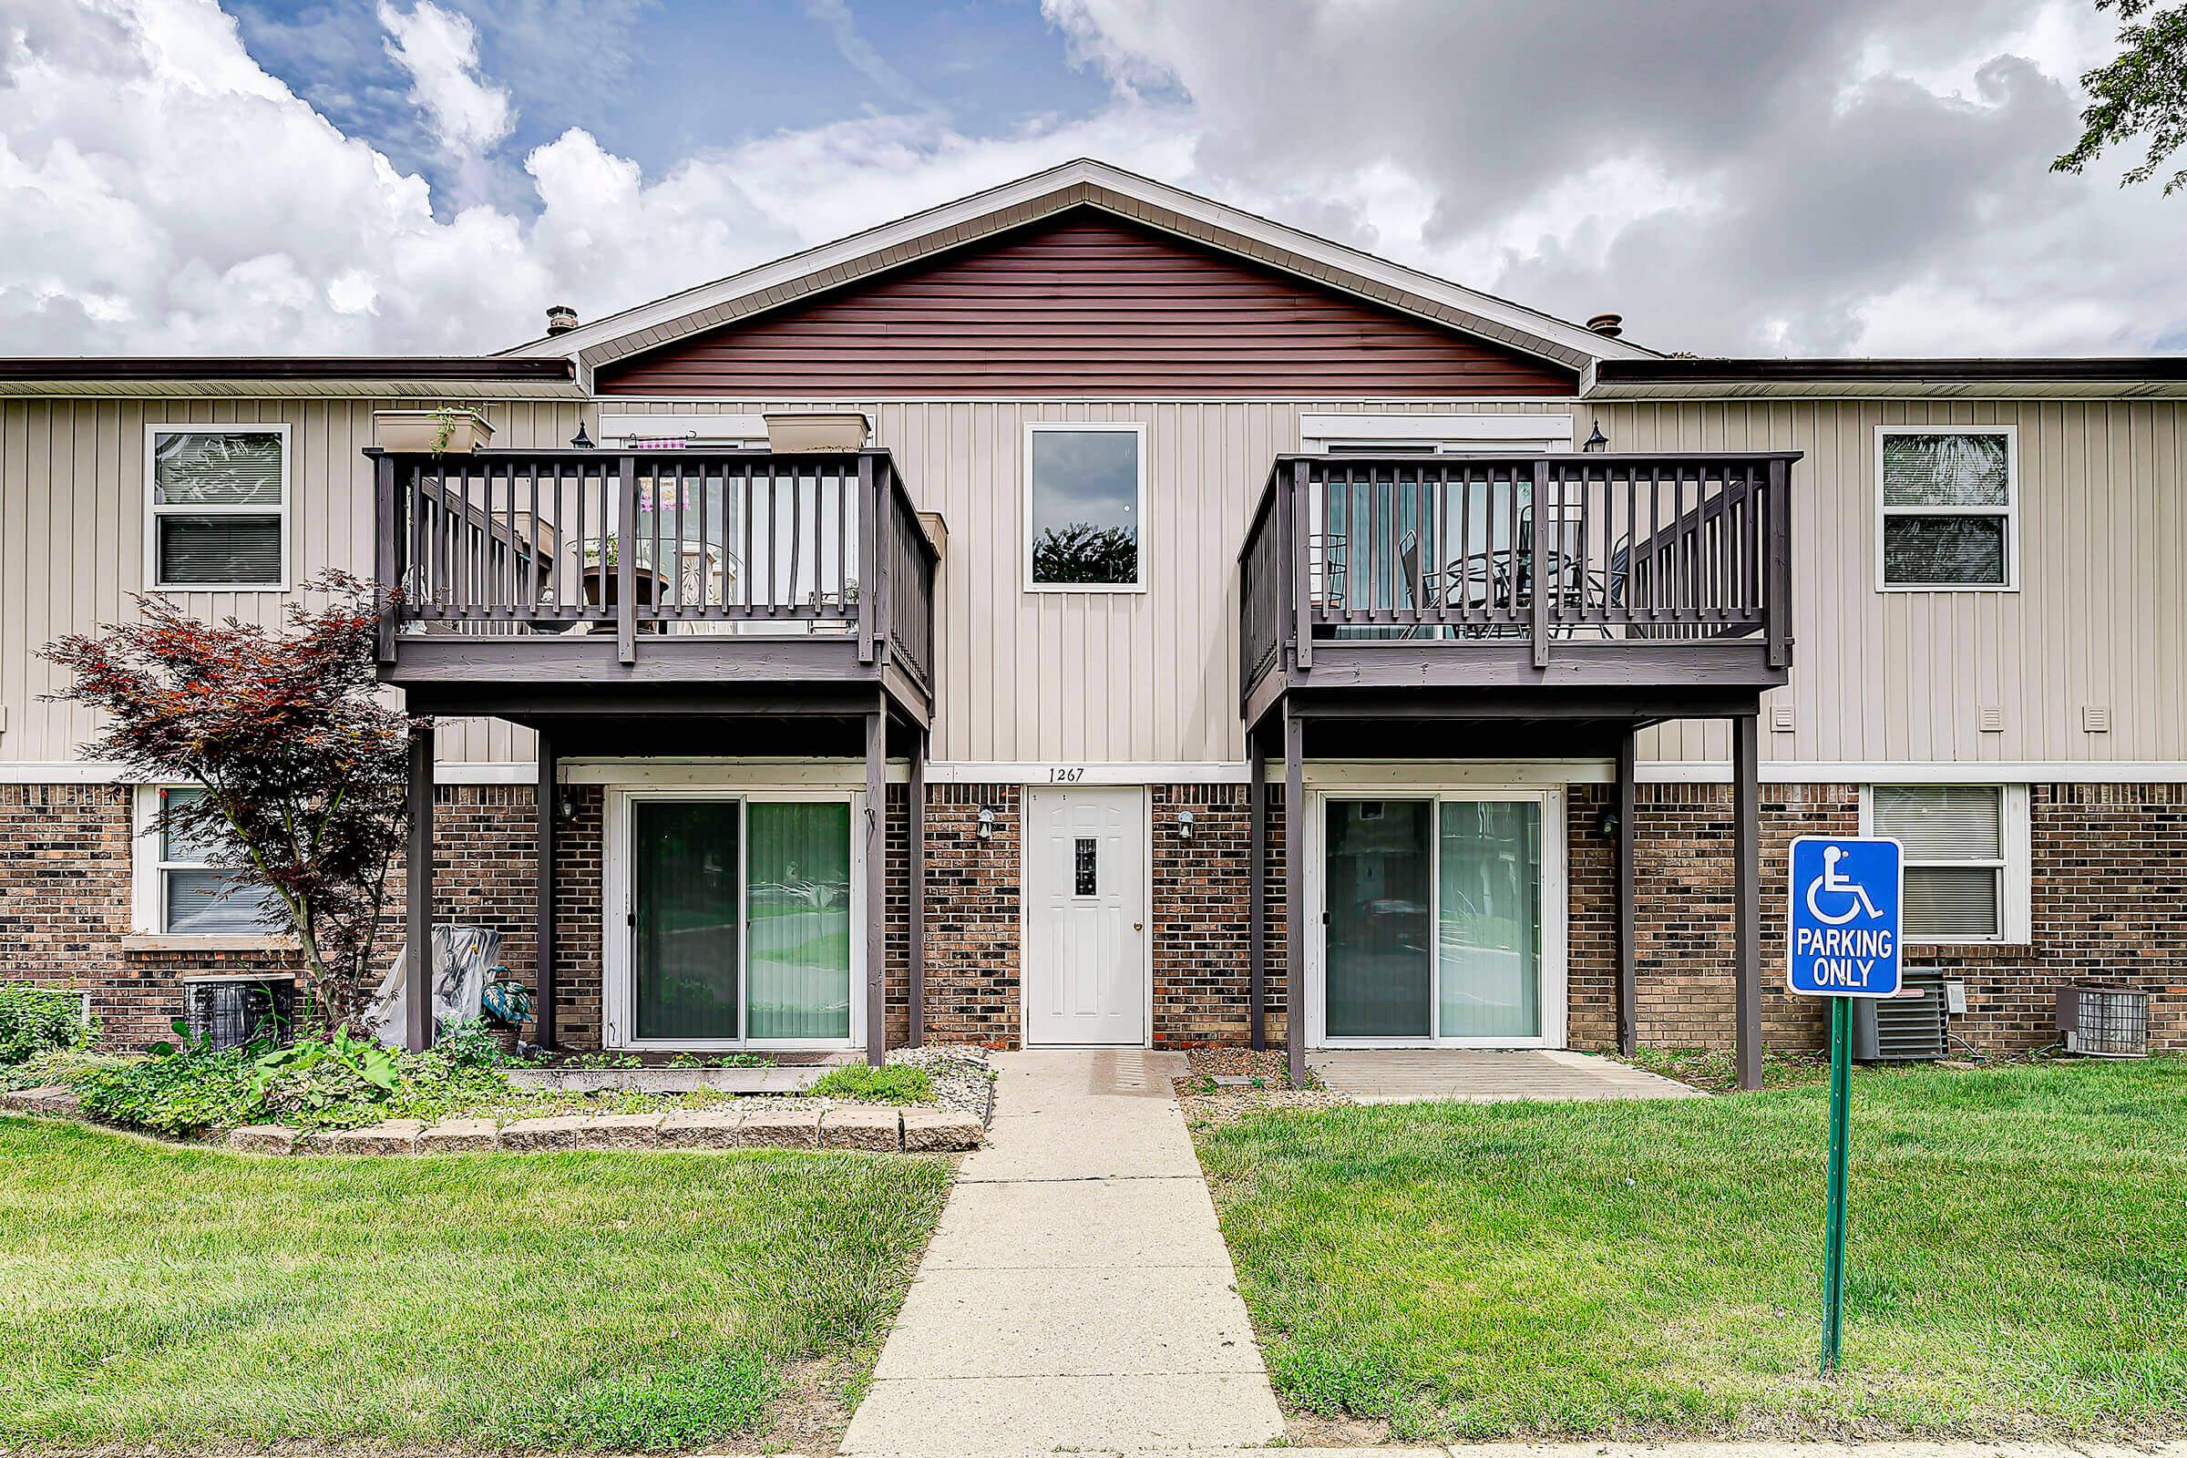
M562 334L549 334L545 339L521 343L514 350L503 350L503 354L518 358L575 356L584 361L588 350L615 345L632 334L645 332L654 332L654 337L645 339L636 348L669 343L682 332L706 328L706 321L693 321L693 317L704 310L726 308L770 291L783 293L776 302L790 302L792 297L803 297L805 289L798 289L798 284L805 280L835 271L842 278L831 282L849 282L870 271L868 260L873 254L884 254L925 238L936 238L936 249L978 238L982 232L993 232L980 227L986 219L1026 203L1052 201L1054 210L1087 203L1107 208L1118 216L1128 216L1148 227L1163 227L1159 219L1118 210L1104 199L1083 195L1083 188L1100 188L1124 201L1133 201L1144 208L1159 208L1188 223L1251 238L1253 243L1260 243L1277 254L1286 254L1290 271L1306 278L1319 278L1321 282L1334 289L1345 289L1347 293L1358 293L1358 289L1347 286L1338 278L1330 278L1330 273L1341 273L1352 280L1415 295L1428 304L1476 319L1481 326L1487 326L1487 334L1492 339L1531 354L1542 354L1566 367L1581 367L1594 358L1658 358L1653 350L1597 334L1579 324L1540 315L1520 304L1511 304L1509 299L1476 293L1325 238L1314 238L1312 234L1303 234L1295 227L1286 227L1251 212L1240 212L1225 203L1153 181L1150 177L1113 168L1104 162L1094 162L1091 157L1065 162L1043 173L1032 173L1030 177L1019 177L1017 181L989 188L986 192L973 192L971 197L960 197L951 203L914 212L905 219L897 219L894 223L868 227L866 232L838 238L835 243L822 243L820 247L805 249L803 254L792 254L695 289L685 289L682 293L671 293L665 299L625 308L619 315L608 315L606 319L564 330ZM962 236L956 236L960 232ZM1181 232L1177 227L1163 227L1163 232L1192 236L1190 232ZM951 236L943 238L945 234ZM1201 238L1201 243L1207 240ZM1367 297L1373 295L1369 293ZM1402 302L1378 302L1402 308ZM1513 339L1511 334L1518 334L1520 339ZM1533 345L1529 348L1527 341L1533 341Z

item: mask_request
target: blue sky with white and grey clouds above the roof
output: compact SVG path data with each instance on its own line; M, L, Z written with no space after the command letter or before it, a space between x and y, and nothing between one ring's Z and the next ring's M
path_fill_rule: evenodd
M20 354L472 352L1094 155L1704 354L2187 348L2093 0L0 0Z

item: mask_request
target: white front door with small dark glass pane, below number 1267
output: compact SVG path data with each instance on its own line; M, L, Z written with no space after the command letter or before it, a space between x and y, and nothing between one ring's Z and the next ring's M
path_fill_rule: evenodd
M1146 1043L1146 793L1026 791L1026 1043Z

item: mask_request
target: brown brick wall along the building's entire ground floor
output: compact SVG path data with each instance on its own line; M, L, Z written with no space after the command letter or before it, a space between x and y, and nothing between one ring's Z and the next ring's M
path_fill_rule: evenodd
M1614 846L1607 785L1568 791L1570 1043L1616 1038ZM601 1043L601 804L564 787L555 833L560 936L558 1040ZM888 1036L908 1032L908 813L888 798ZM995 835L978 837L980 809ZM1150 791L1153 1036L1161 1047L1244 1043L1247 789L1157 785ZM1194 835L1177 839L1190 809ZM1785 861L1793 835L1852 833L1852 785L1763 787L1763 1032L1778 1047L1820 1047L1815 1003L1776 988ZM2148 988L2152 1036L2187 1047L2187 785L2036 785L2032 942L1907 949L1909 964L1966 981L1953 1032L1986 1051L2047 1045L2060 986ZM1015 1047L1019 999L1021 796L1015 785L927 787L927 1008L932 1043ZM534 815L527 785L444 785L435 802L435 898L444 916L499 927L510 973L534 981ZM1728 785L1642 785L1638 796L1640 1038L1732 1043L1732 822ZM1282 791L1271 791L1268 1043L1286 1034ZM289 971L278 953L125 951L131 916L129 791L118 785L0 785L0 979L87 988L116 1047L166 1036L192 975ZM391 887L400 942L402 877Z

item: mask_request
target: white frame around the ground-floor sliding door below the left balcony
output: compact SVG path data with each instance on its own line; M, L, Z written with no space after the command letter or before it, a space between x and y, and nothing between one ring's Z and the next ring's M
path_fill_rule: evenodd
M737 927L737 1034L735 1038L639 1038L636 1036L636 957L632 955L634 927L632 877L632 804L639 800L737 800L737 885L739 914L746 918ZM746 857L750 855L748 807L752 800L781 804L787 800L833 802L851 807L851 1036L849 1038L750 1038L750 909L741 905L746 887ZM689 1054L739 1054L739 1051L859 1051L866 1047L866 837L859 835L866 793L862 789L814 789L811 785L722 785L700 780L689 785L615 785L606 793L606 846L601 859L601 1047L612 1051L689 1051Z

